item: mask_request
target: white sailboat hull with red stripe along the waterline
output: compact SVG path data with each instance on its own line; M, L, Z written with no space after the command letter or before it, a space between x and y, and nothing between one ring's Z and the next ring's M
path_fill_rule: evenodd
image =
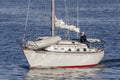
M97 53L55 53L23 50L30 68L81 68L98 64L104 51Z

